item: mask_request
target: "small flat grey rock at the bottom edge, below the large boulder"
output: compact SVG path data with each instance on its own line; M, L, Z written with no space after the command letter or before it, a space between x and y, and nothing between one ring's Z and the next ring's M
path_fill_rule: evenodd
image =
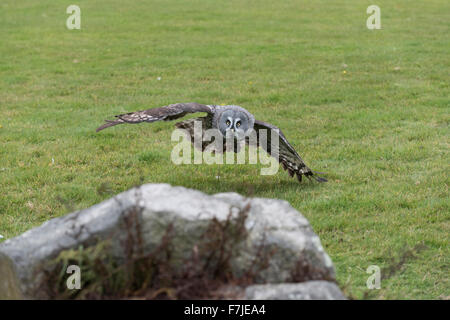
M249 300L346 300L336 284L329 281L258 284L245 289Z

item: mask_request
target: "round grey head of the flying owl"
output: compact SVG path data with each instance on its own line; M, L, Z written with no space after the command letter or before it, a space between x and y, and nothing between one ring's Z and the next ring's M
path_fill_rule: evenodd
M248 131L253 129L254 122L253 116L244 108L225 106L218 115L216 125L224 137L231 135L242 140Z

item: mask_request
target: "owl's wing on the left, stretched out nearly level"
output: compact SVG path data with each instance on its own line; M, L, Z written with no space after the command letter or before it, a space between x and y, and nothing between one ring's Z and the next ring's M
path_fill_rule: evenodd
M199 104L195 102L175 103L161 108L153 108L118 115L116 116L116 120L105 120L106 123L98 127L96 132L122 123L134 124L141 122L155 122L160 120L170 121L184 117L188 113L213 113L213 111L214 106Z

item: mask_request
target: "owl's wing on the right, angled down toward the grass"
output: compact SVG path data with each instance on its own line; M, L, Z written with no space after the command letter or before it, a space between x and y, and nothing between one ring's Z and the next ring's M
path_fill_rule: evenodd
M291 177L294 174L297 176L298 181L302 181L302 176L306 176L307 178L314 178L319 182L326 182L327 179L318 177L316 174L318 172L312 171L308 166L303 162L302 158L299 156L297 151L295 151L294 147L287 141L283 132L279 128L270 123L265 123L262 121L255 121L255 125L253 126L256 137L257 137L257 146L262 147L268 154L276 158L282 165L284 170L289 172ZM262 141L261 139L261 131L266 130L267 141ZM278 148L276 147L276 142L272 140L272 131L274 131L274 138L278 139ZM267 142L267 143L265 143ZM247 143L252 144L249 138L247 137ZM316 173L316 174L315 174Z

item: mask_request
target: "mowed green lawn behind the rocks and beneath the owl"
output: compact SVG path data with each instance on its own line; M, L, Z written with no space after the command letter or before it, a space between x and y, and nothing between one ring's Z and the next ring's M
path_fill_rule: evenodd
M371 4L382 30L366 28ZM2 0L0 235L141 183L240 192L302 212L349 296L448 299L449 27L446 0ZM173 123L95 133L190 101L279 126L329 182L174 165ZM380 290L370 265L392 271Z

